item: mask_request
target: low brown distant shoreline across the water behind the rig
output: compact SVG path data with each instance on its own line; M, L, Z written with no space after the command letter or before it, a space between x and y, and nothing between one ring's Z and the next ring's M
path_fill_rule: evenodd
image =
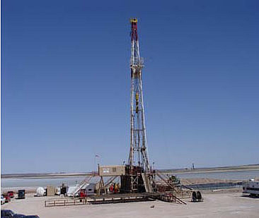
M253 171L259 170L259 164L242 166L221 166L197 169L159 169L162 174L202 174L226 171ZM69 178L91 176L93 172L84 173L45 173L45 174L1 174L1 178Z

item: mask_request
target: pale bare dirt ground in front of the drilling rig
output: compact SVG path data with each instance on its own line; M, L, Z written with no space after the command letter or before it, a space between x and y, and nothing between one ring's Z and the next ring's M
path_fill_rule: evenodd
M76 205L66 207L44 207L50 197L33 197L28 194L25 200L13 199L1 205L21 214L38 214L40 218L81 218L81 217L259 217L259 198L244 197L233 191L203 193L203 202L188 202L187 205L153 201L130 202L109 205ZM151 207L154 205L154 207Z

